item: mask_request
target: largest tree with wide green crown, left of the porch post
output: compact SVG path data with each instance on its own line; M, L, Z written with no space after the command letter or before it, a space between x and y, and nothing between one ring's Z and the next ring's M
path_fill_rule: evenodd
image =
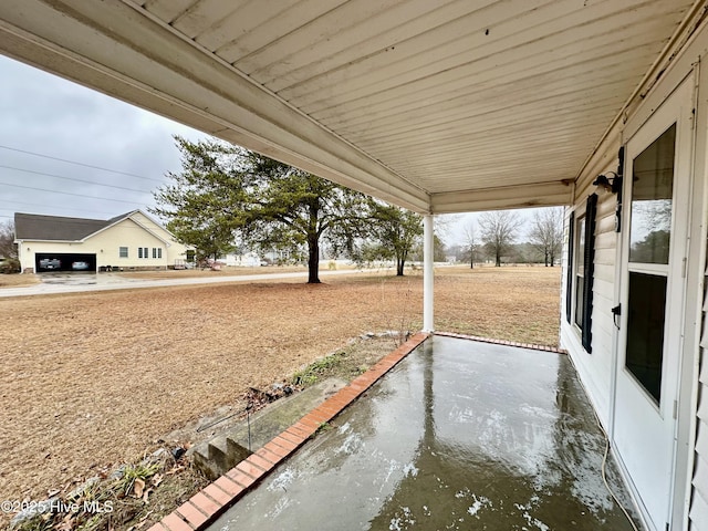
M152 211L204 257L218 258L242 241L250 249L308 256L309 283L319 283L320 244L348 247L364 233L363 194L241 147L175 137L181 171L155 194Z

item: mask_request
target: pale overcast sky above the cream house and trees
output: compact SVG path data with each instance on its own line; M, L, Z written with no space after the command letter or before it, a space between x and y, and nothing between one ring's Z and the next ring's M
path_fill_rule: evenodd
M146 210L165 175L180 169L173 135L206 138L3 55L0 80L0 221L14 212L108 219ZM464 241L476 217L456 216L446 243Z

